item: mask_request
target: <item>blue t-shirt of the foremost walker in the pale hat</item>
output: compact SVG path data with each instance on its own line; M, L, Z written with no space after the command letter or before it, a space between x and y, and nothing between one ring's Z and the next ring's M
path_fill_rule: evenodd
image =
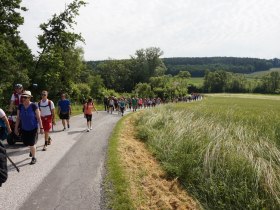
M21 104L19 107L19 117L21 121L21 128L25 131L32 131L38 128L38 121L36 118L36 109L38 106L34 103L31 103L27 109Z

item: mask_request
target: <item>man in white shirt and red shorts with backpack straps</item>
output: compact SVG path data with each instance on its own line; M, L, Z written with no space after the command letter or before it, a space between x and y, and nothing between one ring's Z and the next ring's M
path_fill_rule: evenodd
M49 132L53 125L55 125L55 107L54 103L48 99L48 91L43 90L41 93L41 101L38 102L38 107L41 111L41 120L45 133L45 144L43 147L43 151L47 150L48 145L51 144L51 137Z

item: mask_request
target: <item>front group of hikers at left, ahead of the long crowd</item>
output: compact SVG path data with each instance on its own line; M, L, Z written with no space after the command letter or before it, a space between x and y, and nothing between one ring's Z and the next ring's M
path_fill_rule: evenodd
M36 158L36 143L38 140L38 131L44 134L43 151L46 151L52 143L50 130L56 125L55 105L48 98L48 91L41 92L41 99L34 103L31 91L24 90L22 84L16 84L14 92L11 96L9 112L11 116L6 115L3 109L0 108L0 186L7 179L7 158L16 167L6 153L5 146L1 142L10 136L20 136L21 141L25 146L29 146L31 157L30 165L37 162ZM89 98L83 105L83 113L87 121L87 131L92 129L92 114L93 110L97 112L93 100ZM61 98L57 103L57 114L62 121L63 131L70 128L70 115L72 114L71 103L66 98L66 94L62 93ZM12 120L11 120L12 119ZM15 119L15 121L13 120ZM16 167L17 168L17 167ZM17 168L19 171L19 169Z

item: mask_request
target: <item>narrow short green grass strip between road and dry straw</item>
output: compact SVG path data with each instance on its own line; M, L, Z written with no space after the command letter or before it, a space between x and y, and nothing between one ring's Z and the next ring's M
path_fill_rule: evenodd
M121 128L127 116L123 117L114 128L109 140L107 155L107 176L105 181L108 207L113 210L135 209L129 197L128 182L124 176L118 154Z

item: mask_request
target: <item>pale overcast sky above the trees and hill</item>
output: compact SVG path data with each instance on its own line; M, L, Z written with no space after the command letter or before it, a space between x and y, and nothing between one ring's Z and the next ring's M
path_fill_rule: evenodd
M71 0L22 0L21 37L36 55L41 23ZM159 47L162 57L280 58L279 0L87 0L75 32L85 60L127 59Z

